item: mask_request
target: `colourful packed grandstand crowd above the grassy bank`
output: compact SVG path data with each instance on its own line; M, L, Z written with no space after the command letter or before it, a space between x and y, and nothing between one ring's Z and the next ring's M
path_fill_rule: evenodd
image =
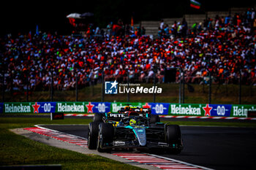
M78 88L105 80L165 81L166 70L176 69L176 82L238 83L256 85L255 11L216 16L187 26L181 22L159 25L159 37L146 36L144 28L110 23L105 32L90 28L85 36L58 34L8 35L1 64L6 90L48 90L53 77L57 90ZM98 33L100 32L100 33ZM129 73L129 74L128 74ZM1 86L3 85L1 75ZM28 83L29 81L29 83ZM29 87L26 85L29 84Z

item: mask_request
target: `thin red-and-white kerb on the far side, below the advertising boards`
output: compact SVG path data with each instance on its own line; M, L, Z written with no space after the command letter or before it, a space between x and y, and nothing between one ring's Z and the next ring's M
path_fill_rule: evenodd
M94 117L94 114L64 114L64 116ZM255 117L171 116L171 115L159 115L159 117L163 117L163 118L188 118L188 119L256 120Z

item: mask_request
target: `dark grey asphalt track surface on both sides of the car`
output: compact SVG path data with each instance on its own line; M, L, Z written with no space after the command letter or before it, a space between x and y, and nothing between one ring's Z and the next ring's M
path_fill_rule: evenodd
M87 138L87 125L43 125ZM255 169L256 128L181 126L184 150L157 154L211 169Z

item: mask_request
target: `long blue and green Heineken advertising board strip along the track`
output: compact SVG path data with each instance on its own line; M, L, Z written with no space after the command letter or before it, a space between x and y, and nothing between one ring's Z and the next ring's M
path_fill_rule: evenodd
M129 103L132 107L151 108L154 115L247 117L249 111L256 112L256 105L239 104L170 104L170 103ZM0 113L117 113L126 102L4 102Z

